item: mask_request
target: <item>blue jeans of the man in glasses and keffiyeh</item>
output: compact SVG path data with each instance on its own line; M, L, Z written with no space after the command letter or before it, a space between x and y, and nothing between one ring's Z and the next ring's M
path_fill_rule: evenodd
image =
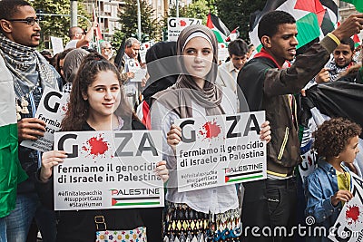
M35 218L43 242L54 242L56 237L55 213L41 205L36 193L18 194L15 209L5 218L8 242L25 242Z

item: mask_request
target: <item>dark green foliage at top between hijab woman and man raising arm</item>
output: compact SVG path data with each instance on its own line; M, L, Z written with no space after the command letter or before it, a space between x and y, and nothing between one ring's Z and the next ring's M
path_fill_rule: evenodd
M250 14L262 10L267 0L215 0L218 16L232 31L239 27L240 37L249 40Z

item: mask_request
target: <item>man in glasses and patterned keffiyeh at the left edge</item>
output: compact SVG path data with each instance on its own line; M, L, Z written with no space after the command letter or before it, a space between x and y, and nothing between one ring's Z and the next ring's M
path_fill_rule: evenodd
M39 45L40 30L34 8L27 2L0 1L0 69L14 83L14 91L11 92L15 92L19 142L37 140L44 135L45 123L34 118L34 113L44 87L59 90L61 83L59 74L35 50ZM9 242L26 241L34 218L41 229L43 241L55 240L54 211L41 206L34 187L40 155L37 150L18 147L18 158L29 178L18 184L15 209L5 217L5 223L4 220L0 223L0 238L7 237Z

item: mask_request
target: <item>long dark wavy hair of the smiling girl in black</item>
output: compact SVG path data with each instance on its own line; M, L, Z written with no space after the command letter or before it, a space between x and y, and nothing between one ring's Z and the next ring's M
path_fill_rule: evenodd
M98 73L111 71L116 74L117 79L121 85L121 76L113 63L107 61L99 53L87 54L77 75L74 78L70 102L68 104L68 111L65 113L64 120L62 121L62 131L82 131L83 125L88 118L89 103L83 100L83 93L87 93L88 87L96 79ZM123 88L120 89L121 100L119 109L126 120L131 120L133 117L132 108L126 102L124 97Z

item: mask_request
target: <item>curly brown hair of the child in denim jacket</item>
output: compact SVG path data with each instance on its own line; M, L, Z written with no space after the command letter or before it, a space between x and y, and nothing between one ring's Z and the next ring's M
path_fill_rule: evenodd
M355 122L344 118L332 118L324 121L317 131L314 131L315 138L313 149L317 150L320 157L327 160L337 157L343 151L351 138L356 137L362 128Z

